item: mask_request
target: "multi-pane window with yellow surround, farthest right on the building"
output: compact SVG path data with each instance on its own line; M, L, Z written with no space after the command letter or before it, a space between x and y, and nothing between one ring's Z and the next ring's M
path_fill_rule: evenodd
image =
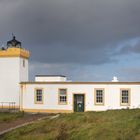
M121 105L129 105L130 103L130 90L121 89Z

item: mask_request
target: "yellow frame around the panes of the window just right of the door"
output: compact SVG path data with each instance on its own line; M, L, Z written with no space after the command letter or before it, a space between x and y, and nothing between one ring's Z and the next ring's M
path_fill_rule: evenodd
M103 98L103 101L102 101L102 103L98 103L98 102L96 102L97 100L96 100L96 97L97 97L97 90L102 90L103 91L103 95L102 95L102 98ZM105 89L104 88L95 88L94 89L94 105L101 105L101 106L104 106L105 105Z

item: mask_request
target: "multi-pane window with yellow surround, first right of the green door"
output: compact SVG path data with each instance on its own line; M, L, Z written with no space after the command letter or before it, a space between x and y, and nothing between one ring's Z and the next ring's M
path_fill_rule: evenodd
M104 90L95 89L95 104L103 105L104 104Z

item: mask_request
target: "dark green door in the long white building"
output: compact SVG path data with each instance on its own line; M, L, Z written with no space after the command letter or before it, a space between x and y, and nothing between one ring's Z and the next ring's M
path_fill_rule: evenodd
M83 94L74 94L74 112L84 112Z

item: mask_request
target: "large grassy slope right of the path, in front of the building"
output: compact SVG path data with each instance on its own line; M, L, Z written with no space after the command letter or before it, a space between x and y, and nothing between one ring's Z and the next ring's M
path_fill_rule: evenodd
M4 140L140 140L140 110L61 114L4 135Z

